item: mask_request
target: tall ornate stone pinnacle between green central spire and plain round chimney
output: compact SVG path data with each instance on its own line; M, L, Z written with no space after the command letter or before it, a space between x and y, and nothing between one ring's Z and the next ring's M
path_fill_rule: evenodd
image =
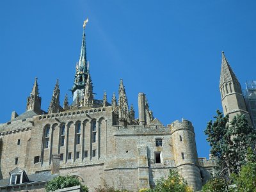
M129 122L129 108L128 108L128 101L127 101L125 88L123 84L123 79L120 80L118 94L119 94L119 98L118 98L119 121L120 121L120 124L125 125L125 122Z

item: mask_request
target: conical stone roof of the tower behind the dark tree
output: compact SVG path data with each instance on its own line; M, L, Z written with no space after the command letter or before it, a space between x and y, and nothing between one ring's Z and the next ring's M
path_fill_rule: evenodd
M228 64L228 61L225 57L224 51L222 51L222 61L221 61L221 72L220 72L220 87L223 85L223 83L228 83L230 81L236 81L237 80L236 75L234 74L232 68Z

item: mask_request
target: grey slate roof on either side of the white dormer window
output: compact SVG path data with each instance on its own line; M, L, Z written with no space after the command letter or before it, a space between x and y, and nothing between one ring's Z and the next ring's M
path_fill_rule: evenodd
M51 174L51 172L41 172L41 173L35 173L35 174L31 174L28 175L28 179L29 181L26 183L32 183L32 182L43 182L43 181L47 181L47 180L52 180L55 177L57 177L58 174ZM0 187L1 186L9 186L9 181L10 179L2 179L0 180Z

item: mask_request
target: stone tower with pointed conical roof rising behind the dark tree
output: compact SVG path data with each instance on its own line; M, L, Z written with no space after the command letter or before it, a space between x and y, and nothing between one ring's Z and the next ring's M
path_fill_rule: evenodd
M222 52L221 61L220 93L224 115L229 115L229 119L232 120L237 114L244 114L249 124L251 124L250 114L246 109L241 85L228 64L224 52Z

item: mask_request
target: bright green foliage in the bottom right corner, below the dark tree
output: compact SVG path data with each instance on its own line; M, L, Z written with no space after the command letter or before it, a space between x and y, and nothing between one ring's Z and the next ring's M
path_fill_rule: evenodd
M252 148L248 148L247 152L248 163L242 166L239 174L232 174L236 191L241 192L256 192L256 156Z

